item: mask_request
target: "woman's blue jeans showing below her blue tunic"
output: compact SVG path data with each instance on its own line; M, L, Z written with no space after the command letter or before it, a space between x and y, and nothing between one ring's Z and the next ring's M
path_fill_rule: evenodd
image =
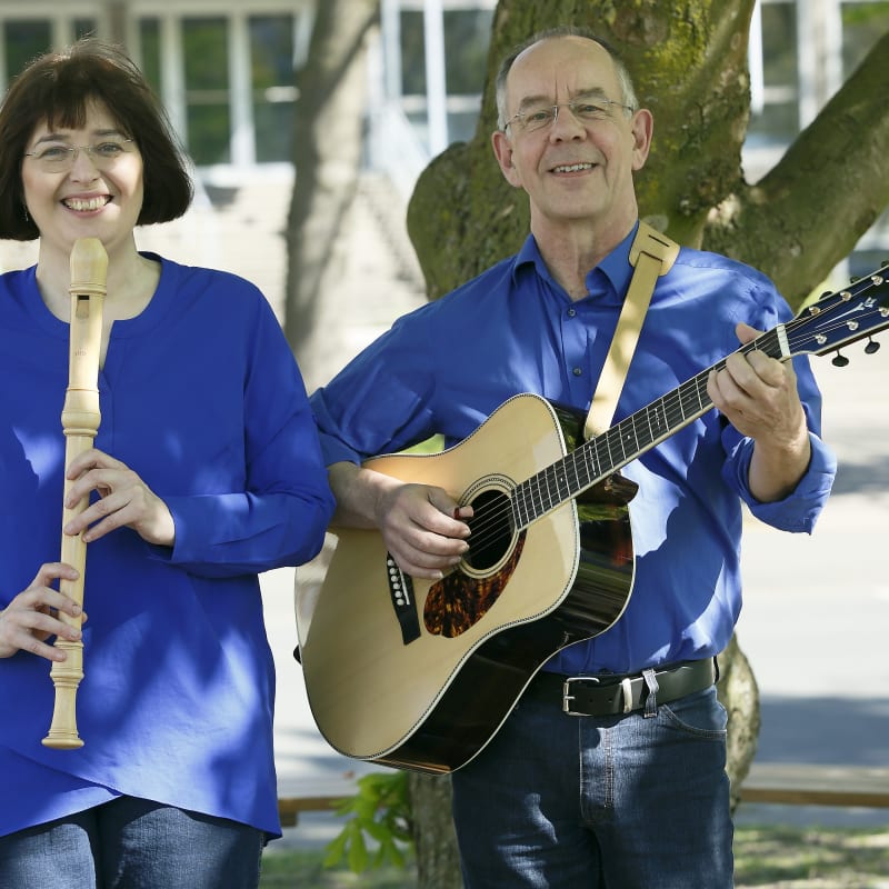
M0 837L3 889L256 889L264 833L121 797Z

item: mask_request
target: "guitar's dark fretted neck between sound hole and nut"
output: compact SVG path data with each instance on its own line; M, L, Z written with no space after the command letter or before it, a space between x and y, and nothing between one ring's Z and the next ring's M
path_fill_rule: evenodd
M755 350L787 360L790 354L785 326L762 333L736 353ZM707 413L713 407L707 394L707 380L713 370L721 370L727 360L702 370L518 485L511 495L516 528L527 528Z

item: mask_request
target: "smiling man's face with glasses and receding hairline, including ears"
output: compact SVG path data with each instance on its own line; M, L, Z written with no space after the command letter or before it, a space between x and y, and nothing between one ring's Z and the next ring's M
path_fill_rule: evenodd
M532 230L587 221L626 233L637 216L632 173L648 157L651 116L621 107L608 52L581 37L535 43L516 59L506 100L510 122L493 134L493 149L507 180L528 192ZM605 113L576 116L568 102L598 103ZM533 129L528 112L552 106L560 106L555 120Z

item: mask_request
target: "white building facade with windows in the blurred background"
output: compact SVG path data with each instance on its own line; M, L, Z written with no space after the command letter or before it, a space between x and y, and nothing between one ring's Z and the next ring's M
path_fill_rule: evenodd
M380 2L367 158L407 196L431 157L472 134L496 0ZM748 179L769 169L889 30L887 6L759 0ZM292 181L294 76L313 18L314 0L0 0L0 92L49 47L112 37L158 90L204 184ZM857 253L872 268L887 250L885 214Z

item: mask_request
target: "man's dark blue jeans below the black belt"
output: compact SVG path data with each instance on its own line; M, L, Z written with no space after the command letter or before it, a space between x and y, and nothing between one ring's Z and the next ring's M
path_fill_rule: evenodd
M522 698L452 776L466 889L729 889L726 711L571 717Z

